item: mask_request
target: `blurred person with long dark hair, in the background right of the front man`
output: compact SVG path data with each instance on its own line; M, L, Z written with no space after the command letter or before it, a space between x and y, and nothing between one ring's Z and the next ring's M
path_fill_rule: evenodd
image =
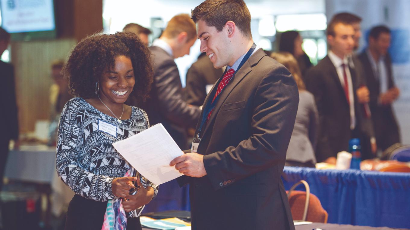
M312 63L310 62L309 56L303 51L302 43L302 37L297 31L289 30L280 35L279 52L289 52L295 57L303 77L306 71L312 66Z

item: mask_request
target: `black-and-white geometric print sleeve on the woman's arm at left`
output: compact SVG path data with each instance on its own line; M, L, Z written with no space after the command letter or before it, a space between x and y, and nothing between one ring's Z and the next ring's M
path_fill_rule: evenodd
M84 110L82 110L84 111ZM93 174L84 169L80 147L84 133L80 130L80 106L75 100L64 106L57 135L56 169L63 182L76 194L94 201L107 201L116 196L112 193L112 180L117 176Z

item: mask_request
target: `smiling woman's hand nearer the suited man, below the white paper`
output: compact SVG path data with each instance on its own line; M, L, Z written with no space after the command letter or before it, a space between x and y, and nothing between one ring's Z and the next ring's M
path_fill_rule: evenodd
M128 194L122 201L125 212L131 212L132 210L136 210L137 208L148 204L154 196L153 187L147 186L147 188L144 188L139 178L137 180L137 185L141 186L141 188L138 189L137 194Z

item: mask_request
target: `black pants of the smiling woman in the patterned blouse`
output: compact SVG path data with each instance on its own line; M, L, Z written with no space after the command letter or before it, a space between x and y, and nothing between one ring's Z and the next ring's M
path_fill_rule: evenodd
M101 230L107 201L93 201L77 194L68 205L65 230ZM128 218L127 230L141 230L138 218Z

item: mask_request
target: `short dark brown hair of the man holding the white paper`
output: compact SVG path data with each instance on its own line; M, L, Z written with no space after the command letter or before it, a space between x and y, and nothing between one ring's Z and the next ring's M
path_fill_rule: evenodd
M252 38L251 13L243 0L206 0L191 11L191 16L195 23L203 20L219 32L232 21L244 36Z

